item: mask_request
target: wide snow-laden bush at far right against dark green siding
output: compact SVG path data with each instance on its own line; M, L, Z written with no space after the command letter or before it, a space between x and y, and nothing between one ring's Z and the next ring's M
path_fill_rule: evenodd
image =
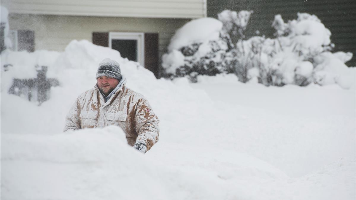
M345 76L344 63L352 58L352 53L339 52L333 56L329 52L333 48L331 33L318 17L298 13L297 20L285 23L281 15L276 15L272 26L276 38L255 36L237 42L236 75L240 81L257 78L264 85L277 86L332 82L347 87L339 79L348 79L340 76ZM330 60L334 61L332 66Z

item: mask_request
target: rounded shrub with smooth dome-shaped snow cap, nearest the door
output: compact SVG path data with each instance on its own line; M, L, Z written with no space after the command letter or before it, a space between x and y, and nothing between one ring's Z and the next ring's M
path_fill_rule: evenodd
M192 20L180 28L162 56L166 76L215 75L234 72L234 45L213 18Z

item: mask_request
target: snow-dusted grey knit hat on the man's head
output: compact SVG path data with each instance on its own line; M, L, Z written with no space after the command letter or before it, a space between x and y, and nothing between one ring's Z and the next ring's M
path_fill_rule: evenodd
M115 60L111 60L110 58L105 58L101 63L99 63L98 72L96 72L96 79L101 76L115 78L117 80L121 80L121 70L120 64Z

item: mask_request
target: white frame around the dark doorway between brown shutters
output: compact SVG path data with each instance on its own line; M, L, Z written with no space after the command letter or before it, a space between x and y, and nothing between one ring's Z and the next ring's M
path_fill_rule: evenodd
M145 67L145 33L140 32L109 32L109 47L112 40L136 40L137 62Z

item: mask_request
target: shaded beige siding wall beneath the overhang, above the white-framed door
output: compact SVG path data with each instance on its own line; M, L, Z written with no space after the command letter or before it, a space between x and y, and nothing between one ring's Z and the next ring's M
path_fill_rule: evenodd
M93 32L158 33L160 57L175 31L190 19L151 19L10 14L10 30L35 32L35 49L64 51L72 40L92 40Z

